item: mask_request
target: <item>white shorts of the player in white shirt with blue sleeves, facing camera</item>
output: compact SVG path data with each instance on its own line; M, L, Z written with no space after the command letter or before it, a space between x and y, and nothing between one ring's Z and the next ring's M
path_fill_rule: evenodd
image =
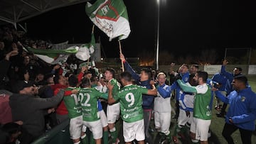
M171 113L154 111L154 124L156 129L160 129L161 133L168 134L171 125Z

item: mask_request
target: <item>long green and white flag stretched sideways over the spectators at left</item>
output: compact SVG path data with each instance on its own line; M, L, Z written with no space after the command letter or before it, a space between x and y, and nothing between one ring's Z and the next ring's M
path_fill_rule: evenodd
M71 46L65 50L41 50L36 48L25 48L28 52L33 52L38 58L47 62L48 64L55 65L58 62L65 62L68 56L78 52L78 46Z

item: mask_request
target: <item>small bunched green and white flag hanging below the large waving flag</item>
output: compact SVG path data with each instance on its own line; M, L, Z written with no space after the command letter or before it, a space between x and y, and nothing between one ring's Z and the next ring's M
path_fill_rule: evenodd
M75 54L75 57L83 61L88 60L90 55L95 51L95 46L95 36L92 32L90 43L80 45L78 52Z

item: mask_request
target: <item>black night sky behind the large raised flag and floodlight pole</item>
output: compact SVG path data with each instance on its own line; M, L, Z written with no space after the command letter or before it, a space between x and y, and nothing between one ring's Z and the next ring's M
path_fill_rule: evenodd
M126 57L137 57L143 50L156 49L156 0L124 0L127 6L131 33L122 40ZM256 47L255 1L185 1L162 0L160 5L159 51L174 55L196 55L203 49ZM61 43L90 41L92 22L85 13L85 3L56 9L24 21L32 38ZM117 38L111 42L105 33L95 28L107 57L118 57Z

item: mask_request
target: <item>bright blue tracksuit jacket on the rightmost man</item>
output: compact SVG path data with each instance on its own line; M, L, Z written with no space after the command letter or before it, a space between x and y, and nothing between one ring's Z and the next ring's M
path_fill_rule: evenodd
M238 128L255 131L256 94L252 92L250 87L239 92L230 92L228 96L223 96L218 91L215 94L225 104L230 105L225 118L226 123L230 123L229 118L232 118L233 123Z

